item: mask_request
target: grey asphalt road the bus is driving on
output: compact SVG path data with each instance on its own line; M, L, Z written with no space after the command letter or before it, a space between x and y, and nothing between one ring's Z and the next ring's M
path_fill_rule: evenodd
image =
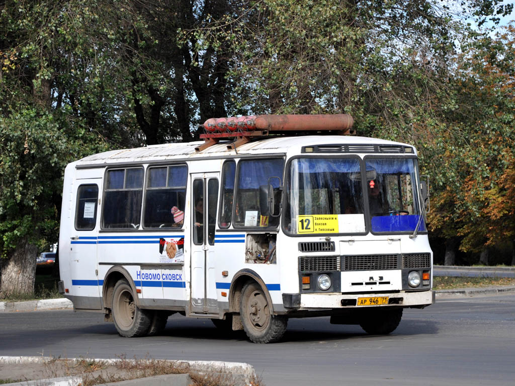
M405 310L389 336L329 318L292 319L284 342L224 335L173 316L163 336L121 338L97 313L0 314L0 356L151 357L247 362L272 385L509 385L515 379L515 293L438 300Z

